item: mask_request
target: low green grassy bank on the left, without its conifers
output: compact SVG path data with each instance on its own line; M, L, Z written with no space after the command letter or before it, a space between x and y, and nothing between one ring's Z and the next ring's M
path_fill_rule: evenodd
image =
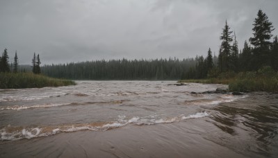
M42 88L76 85L72 80L60 80L33 73L0 73L0 89Z

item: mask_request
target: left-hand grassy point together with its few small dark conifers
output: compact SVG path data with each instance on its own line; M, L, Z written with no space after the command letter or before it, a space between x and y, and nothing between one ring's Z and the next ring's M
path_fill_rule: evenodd
M19 62L17 57L17 51L15 51L14 62L8 64L8 50L3 51L0 57L0 89L19 89L19 88L41 88L41 87L58 87L75 85L75 82L71 80L60 80L55 78L49 78L47 76L40 75L40 55L38 54L32 60L33 73L26 73L25 70L21 70L19 73Z

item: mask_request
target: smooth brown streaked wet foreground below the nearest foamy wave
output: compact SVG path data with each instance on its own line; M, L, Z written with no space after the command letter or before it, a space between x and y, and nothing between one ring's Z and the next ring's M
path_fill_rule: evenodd
M0 157L244 157L206 139L206 131L215 127L196 122L127 125L106 132L3 141Z

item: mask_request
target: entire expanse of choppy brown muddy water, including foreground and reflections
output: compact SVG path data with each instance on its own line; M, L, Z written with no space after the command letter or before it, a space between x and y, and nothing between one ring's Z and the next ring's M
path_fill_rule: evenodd
M227 86L174 81L77 83L0 89L0 157L278 157L278 94L198 94Z

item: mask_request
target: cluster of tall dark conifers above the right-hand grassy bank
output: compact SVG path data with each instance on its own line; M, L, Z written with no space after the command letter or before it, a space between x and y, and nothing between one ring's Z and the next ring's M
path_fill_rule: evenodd
M272 43L267 41L272 36L270 33L273 30L273 26L261 10L259 10L258 16L255 19L255 27L253 28L255 31L254 38L250 38L250 42L255 48L249 46L245 41L243 51L239 53L236 33L234 35L234 44L231 46L230 43L233 41L232 31L229 30L230 28L226 21L220 36L222 43L218 55L218 68L213 67L211 69L211 53L208 53L206 60L202 56L197 56L195 67L190 67L183 79L217 78L218 81L229 80L229 78L234 78L235 72L257 71L260 67L270 64L277 71L278 39L275 37ZM259 35L260 33L261 35ZM215 58L213 60L217 61Z

